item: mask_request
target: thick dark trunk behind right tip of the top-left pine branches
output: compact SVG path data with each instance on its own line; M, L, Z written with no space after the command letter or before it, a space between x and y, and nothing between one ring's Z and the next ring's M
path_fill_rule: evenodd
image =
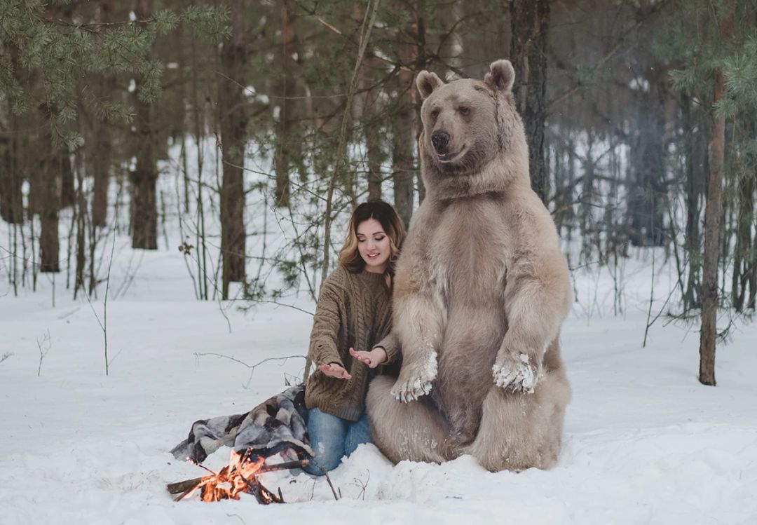
M152 16L152 0L136 0L134 14L137 20L148 20ZM135 106L137 162L131 173L132 248L157 250L157 163L152 108L136 94Z

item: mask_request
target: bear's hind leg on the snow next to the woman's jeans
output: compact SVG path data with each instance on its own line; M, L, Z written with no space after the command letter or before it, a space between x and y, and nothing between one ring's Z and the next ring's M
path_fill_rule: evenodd
M441 414L427 399L398 402L390 393L393 385L394 379L388 376L371 381L366 411L373 443L394 463L451 459L449 429Z

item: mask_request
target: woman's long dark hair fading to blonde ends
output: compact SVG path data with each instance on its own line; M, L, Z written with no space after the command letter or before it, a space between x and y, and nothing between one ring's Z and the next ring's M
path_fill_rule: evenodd
M397 257L400 255L400 248L405 237L405 228L402 220L397 216L397 212L391 207L391 204L383 200L372 200L364 202L355 208L350 217L350 226L347 230L347 238L344 240L344 246L339 250L339 263L350 272L362 272L366 267L366 262L360 256L357 250L357 226L368 219L376 219L382 225L386 235L389 238L389 255L385 275L387 284L391 285L391 278L394 276L394 265L397 263Z

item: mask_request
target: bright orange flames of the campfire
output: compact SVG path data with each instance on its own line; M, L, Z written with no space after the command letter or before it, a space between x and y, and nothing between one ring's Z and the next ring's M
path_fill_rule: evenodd
M192 490L182 495L188 499L201 489L200 499L204 502L218 502L221 499L239 499L241 492L252 492L261 503L273 501L269 491L257 483L257 473L263 467L266 458L252 461L246 455L232 450L229 464L218 473L205 476Z

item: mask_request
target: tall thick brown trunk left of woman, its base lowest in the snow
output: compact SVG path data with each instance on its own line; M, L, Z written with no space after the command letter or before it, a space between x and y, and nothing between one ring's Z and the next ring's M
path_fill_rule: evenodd
M223 42L218 88L218 110L223 144L221 186L221 253L223 299L229 298L229 282L245 280L245 0L226 0L231 11L232 36Z

